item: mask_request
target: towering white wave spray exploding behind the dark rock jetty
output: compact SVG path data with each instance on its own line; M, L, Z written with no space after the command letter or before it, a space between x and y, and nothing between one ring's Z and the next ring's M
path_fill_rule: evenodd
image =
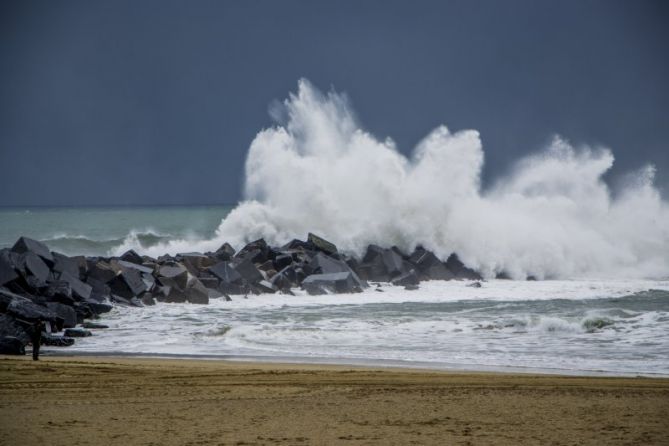
M452 252L492 277L666 277L669 208L653 166L615 196L603 180L609 149L555 137L483 189L476 130L440 126L407 157L392 139L357 123L345 95L307 80L271 110L246 160L245 198L211 240L171 241L151 254L215 250L264 237L273 244L312 231L360 254L370 243Z

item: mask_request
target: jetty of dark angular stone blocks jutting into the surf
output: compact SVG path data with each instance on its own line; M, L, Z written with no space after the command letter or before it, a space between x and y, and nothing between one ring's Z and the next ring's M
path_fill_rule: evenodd
M445 262L418 247L370 245L361 258L315 235L281 247L260 239L241 250L225 243L215 252L154 259L128 251L120 257L66 256L28 237L0 250L0 354L25 354L37 327L44 345L68 346L104 325L90 322L115 305L158 302L207 304L231 296L285 293L356 293L369 282L408 290L424 280L481 280L452 254Z

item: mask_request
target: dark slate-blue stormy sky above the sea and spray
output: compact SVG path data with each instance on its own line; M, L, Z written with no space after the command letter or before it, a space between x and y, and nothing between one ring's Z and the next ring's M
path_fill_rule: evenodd
M5 0L0 205L236 202L300 77L407 153L478 129L488 180L559 133L666 189L668 4Z

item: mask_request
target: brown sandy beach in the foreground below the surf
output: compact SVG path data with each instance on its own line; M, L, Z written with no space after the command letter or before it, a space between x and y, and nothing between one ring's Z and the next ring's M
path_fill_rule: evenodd
M0 445L669 444L669 379L0 356Z

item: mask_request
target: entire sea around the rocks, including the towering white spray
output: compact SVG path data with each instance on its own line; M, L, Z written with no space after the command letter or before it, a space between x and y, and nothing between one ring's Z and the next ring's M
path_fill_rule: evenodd
M440 126L406 156L307 80L271 115L236 206L0 210L0 242L157 257L314 232L357 256L456 252L486 280L116 307L68 352L669 375L669 207L653 166L612 188L610 149L556 136L483 187L475 130Z

